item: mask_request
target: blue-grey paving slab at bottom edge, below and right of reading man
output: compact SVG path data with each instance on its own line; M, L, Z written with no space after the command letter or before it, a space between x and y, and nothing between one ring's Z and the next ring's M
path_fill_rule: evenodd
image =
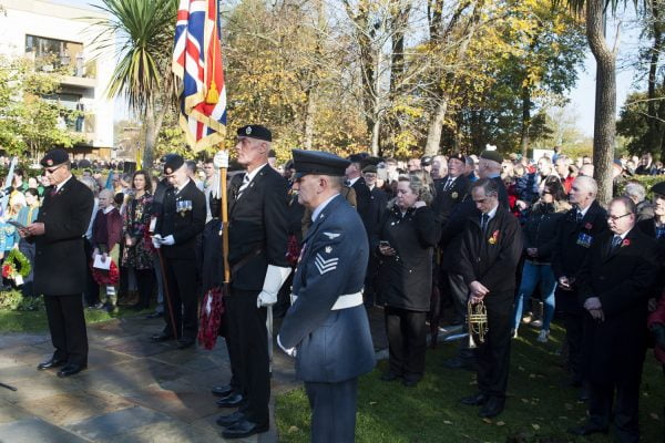
M64 427L89 440L108 441L110 437L130 432L136 427L171 421L173 421L172 418L161 412L142 406L132 406L72 423Z

